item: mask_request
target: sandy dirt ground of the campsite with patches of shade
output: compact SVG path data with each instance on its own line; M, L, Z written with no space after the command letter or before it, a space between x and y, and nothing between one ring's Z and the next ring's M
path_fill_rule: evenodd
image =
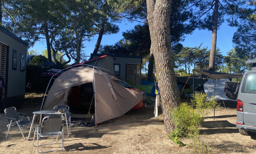
M40 110L42 95L26 95L25 103L17 107L19 113L28 114ZM215 110L202 122L200 138L206 143L210 153L255 154L256 135L243 136L235 127L236 109L226 108ZM0 112L0 153L37 153L36 147L22 138L21 133L5 140L7 120L4 112ZM37 124L37 123L35 123ZM34 124L34 125L35 125ZM29 126L24 127L23 134L27 137ZM16 133L17 128L11 127L9 135ZM54 138L41 138L39 144L54 142ZM189 144L189 139L182 139ZM57 144L39 148L43 150L57 150L61 147L61 140ZM192 154L192 148L175 145L167 137L164 130L162 115L154 118L153 110L144 108L134 110L130 115L115 118L112 123L100 124L97 127L71 127L70 137L64 137L64 148L52 153L174 153Z

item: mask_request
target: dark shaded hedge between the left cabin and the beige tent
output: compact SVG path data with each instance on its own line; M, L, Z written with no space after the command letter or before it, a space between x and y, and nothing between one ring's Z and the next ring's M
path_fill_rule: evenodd
M44 57L44 56L43 56ZM44 57L45 58L45 57ZM41 77L41 73L46 73L47 70L52 68L59 69L56 64L43 65L43 64L27 64L26 68L26 92L27 91L40 91L44 92L48 86L50 78Z

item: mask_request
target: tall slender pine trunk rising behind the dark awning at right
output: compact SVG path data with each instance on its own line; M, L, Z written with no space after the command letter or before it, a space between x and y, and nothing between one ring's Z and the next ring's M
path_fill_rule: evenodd
M216 50L216 42L217 42L218 15L219 15L219 0L215 0L214 17L213 17L213 34L212 34L212 44L211 44L210 62L209 62L208 71L215 71L214 60L215 60L215 50Z

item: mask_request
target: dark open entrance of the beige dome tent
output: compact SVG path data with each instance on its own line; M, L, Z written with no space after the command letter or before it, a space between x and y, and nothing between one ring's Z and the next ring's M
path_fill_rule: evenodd
M71 117L87 117L90 108L90 115L95 113L95 101L93 99L93 83L89 82L79 86L74 86L69 92L68 106Z

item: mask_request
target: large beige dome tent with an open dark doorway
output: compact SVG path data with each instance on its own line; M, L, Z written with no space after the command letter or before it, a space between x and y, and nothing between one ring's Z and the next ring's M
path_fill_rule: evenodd
M141 93L124 88L100 69L85 64L64 69L51 86L43 110L68 105L71 112L88 114L91 105L98 124L122 116L142 100Z

